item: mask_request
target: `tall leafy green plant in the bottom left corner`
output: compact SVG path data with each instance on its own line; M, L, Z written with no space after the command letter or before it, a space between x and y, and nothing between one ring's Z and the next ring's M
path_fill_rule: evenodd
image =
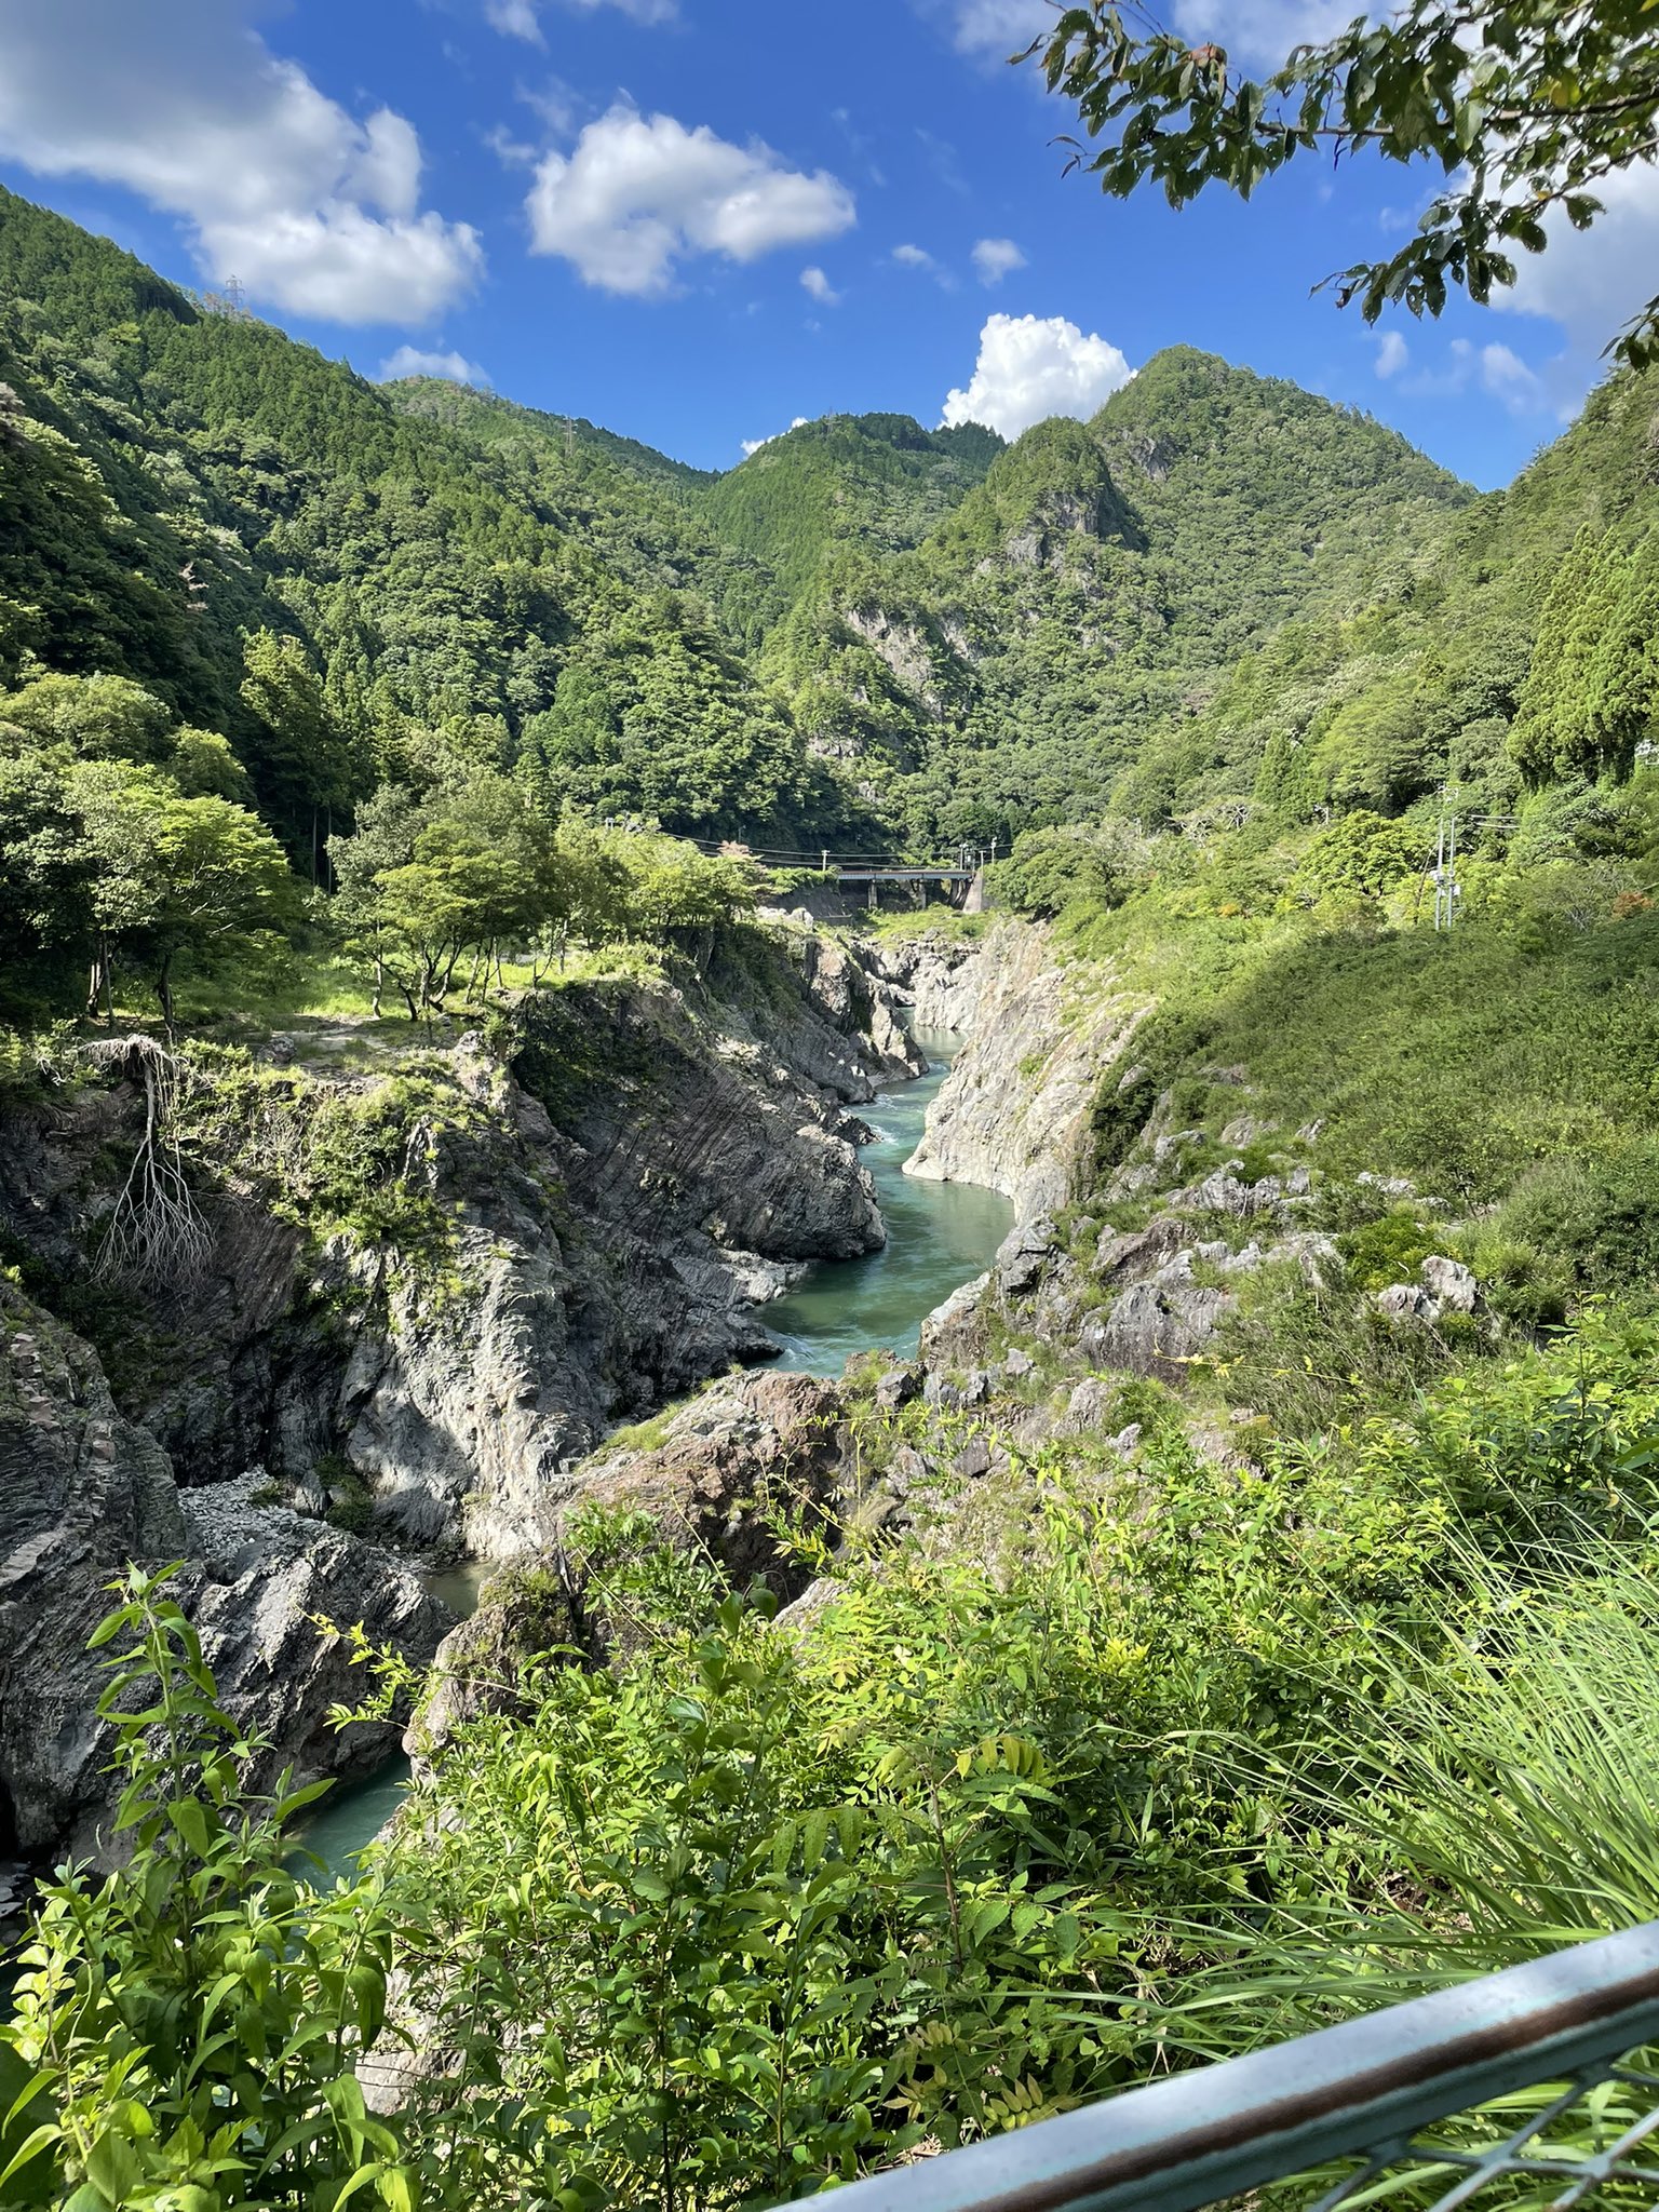
M392 1920L374 1882L334 1893L288 1867L319 1794L243 1785L259 1745L219 1705L201 1644L133 1568L97 1630L117 1736L117 1874L42 1889L0 2028L11 2203L411 2212L392 2128L356 2079L387 2006ZM22 2081L15 2073L22 2068Z

